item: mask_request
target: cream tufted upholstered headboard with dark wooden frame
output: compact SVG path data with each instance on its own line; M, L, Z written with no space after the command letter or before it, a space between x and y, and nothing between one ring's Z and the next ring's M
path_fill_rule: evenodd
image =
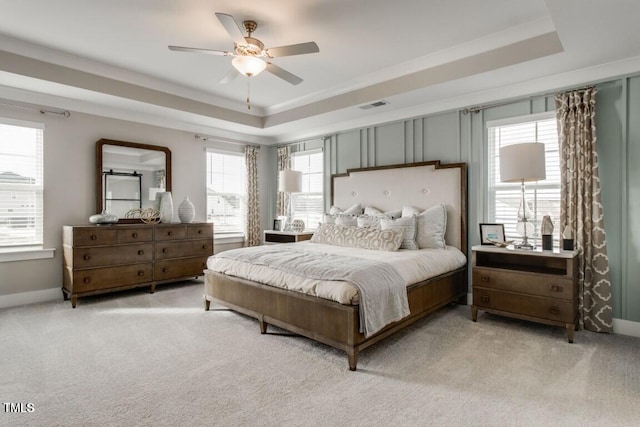
M447 207L448 245L467 252L467 165L440 161L349 169L331 177L332 204L356 203L382 211L415 206Z

